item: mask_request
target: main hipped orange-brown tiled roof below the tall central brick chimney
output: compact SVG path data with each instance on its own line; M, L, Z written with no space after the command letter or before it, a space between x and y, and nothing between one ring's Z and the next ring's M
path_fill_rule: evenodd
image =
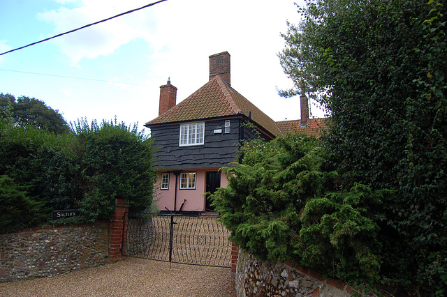
M216 75L191 96L145 125L212 119L219 116L244 114L272 135L281 135L281 130L269 116L261 112L249 100Z

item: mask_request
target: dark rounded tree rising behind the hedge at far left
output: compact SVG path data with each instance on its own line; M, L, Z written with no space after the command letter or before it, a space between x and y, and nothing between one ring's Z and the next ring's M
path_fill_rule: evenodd
M0 118L10 119L11 113L17 125L34 125L56 134L70 131L59 110L45 105L42 100L27 96L20 96L16 100L15 96L9 93L0 93Z

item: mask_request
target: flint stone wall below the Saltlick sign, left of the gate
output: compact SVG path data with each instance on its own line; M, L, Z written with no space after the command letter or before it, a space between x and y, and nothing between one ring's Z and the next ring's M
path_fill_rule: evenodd
M108 222L0 234L0 282L107 263L108 236Z

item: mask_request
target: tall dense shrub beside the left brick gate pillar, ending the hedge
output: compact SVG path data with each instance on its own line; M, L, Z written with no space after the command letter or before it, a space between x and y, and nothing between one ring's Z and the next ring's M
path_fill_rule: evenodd
M78 203L86 218L109 219L115 199L128 201L131 211L149 208L156 178L152 139L116 120L101 125L78 121L75 132L83 193Z

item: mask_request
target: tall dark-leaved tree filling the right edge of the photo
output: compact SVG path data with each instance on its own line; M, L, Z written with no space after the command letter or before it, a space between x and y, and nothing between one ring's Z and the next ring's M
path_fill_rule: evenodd
M344 186L396 191L379 222L381 275L445 294L445 3L317 0L300 13L279 54L295 85L283 95L306 91L328 109Z

